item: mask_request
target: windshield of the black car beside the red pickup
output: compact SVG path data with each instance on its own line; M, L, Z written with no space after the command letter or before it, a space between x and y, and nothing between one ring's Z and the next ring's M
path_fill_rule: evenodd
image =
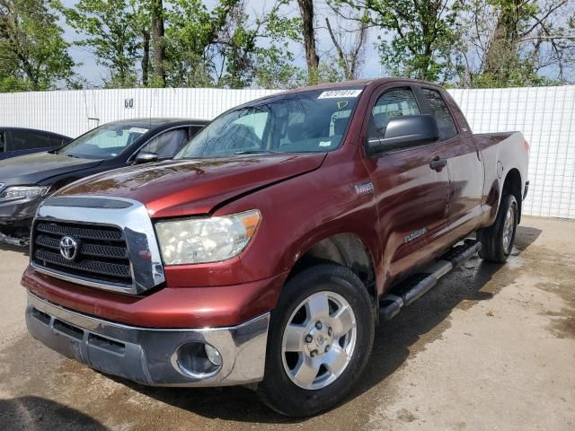
M148 131L133 124L104 124L79 136L57 154L83 159L111 159Z

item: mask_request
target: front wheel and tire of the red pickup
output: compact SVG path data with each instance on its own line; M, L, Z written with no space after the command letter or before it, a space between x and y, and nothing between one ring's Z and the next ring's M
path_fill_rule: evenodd
M288 324L296 330L287 330ZM290 417L332 408L365 369L374 331L373 303L349 268L306 268L284 286L271 312L265 376L257 389L261 400Z

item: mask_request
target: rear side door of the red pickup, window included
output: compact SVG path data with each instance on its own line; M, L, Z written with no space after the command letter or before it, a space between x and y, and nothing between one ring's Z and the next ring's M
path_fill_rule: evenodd
M421 87L429 113L438 121L442 157L449 173L449 230L453 242L472 233L481 218L483 163L473 134L447 92ZM454 117L461 116L462 119Z

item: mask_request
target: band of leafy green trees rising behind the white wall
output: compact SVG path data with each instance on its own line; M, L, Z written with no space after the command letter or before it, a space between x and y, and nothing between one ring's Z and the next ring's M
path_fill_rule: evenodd
M304 41L296 0L0 0L0 92L85 84L55 10L109 88L341 81L357 75L366 34L386 75L485 88L565 84L575 72L575 9L564 0L324 1L331 8L314 7L320 63L308 69L302 49L292 52ZM326 17L335 31L322 27Z

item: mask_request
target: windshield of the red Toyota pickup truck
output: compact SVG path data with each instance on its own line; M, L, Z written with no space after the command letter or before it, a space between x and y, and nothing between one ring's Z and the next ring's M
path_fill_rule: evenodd
M296 92L243 105L209 123L175 158L333 151L341 144L361 91Z

